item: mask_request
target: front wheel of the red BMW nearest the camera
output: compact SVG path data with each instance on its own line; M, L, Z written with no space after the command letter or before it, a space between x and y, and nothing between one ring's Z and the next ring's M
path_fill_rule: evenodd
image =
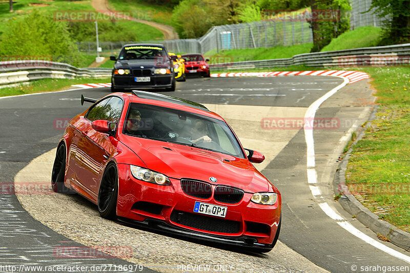
M98 191L98 212L103 218L117 219L118 172L114 163L106 167Z

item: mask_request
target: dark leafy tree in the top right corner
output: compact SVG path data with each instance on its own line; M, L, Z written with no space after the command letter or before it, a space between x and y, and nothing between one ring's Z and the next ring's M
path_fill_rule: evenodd
M410 1L372 0L369 10L373 8L378 16L384 18L382 44L410 43Z

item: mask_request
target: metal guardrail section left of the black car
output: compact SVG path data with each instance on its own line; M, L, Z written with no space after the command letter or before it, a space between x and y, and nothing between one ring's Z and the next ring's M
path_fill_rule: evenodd
M111 69L76 68L44 60L0 61L0 86L45 78L110 77Z

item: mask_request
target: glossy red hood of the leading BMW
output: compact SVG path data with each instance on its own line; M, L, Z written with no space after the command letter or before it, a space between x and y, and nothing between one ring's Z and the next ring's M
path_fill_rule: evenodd
M121 135L120 141L133 150L149 169L168 177L208 182L210 177L216 177L216 184L239 187L245 192L269 191L268 180L248 159L127 135Z

